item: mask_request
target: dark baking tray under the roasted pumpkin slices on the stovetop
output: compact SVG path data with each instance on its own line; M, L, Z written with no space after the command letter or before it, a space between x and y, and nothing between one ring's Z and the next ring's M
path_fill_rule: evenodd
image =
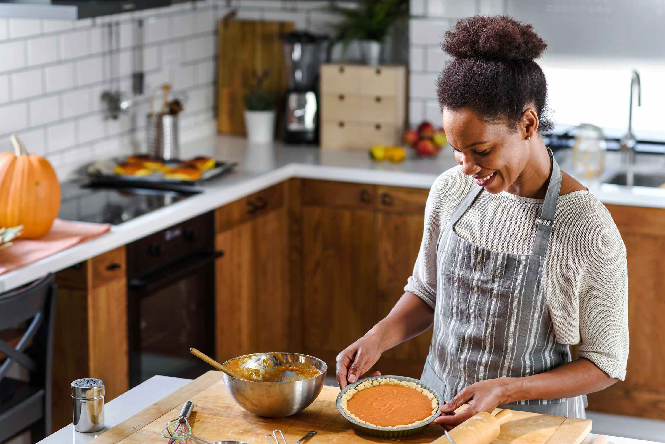
M85 177L90 180L90 183L95 185L114 185L114 186L142 186L142 187L164 187L165 185L199 185L205 180L218 177L222 174L233 171L237 166L237 162L221 162L217 160L215 166L207 171L201 173L201 177L197 180L181 180L181 179L168 179L162 175L160 171L156 171L148 175L124 175L116 174L113 172L116 164L124 162L122 159L110 159L102 162L93 162L82 169ZM162 160L166 166L176 167L184 160L170 159Z

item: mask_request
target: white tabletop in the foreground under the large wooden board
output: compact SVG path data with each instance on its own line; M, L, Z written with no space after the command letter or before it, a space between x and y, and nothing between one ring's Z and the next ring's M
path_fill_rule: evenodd
M139 384L122 393L112 401L106 403L104 406L104 429L96 433L79 433L74 431L72 424L63 427L59 431L53 433L51 436L39 441L41 444L84 444L104 431L118 425L128 417L138 413L142 409L148 407L152 403L159 401L164 396L168 395L181 388L191 380L182 378L171 378L170 376L153 376L146 382ZM589 434L583 441L583 444L591 444L597 435L594 433ZM214 437L203 437L213 439ZM641 439L630 439L608 436L608 442L614 444L646 444L655 443L656 441L642 441ZM166 443L166 439L164 440Z

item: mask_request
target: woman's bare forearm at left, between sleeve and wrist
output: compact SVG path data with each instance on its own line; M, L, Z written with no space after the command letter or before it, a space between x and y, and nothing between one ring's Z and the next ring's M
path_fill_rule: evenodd
M388 316L367 334L378 334L381 352L425 332L434 323L434 310L412 292L402 294Z

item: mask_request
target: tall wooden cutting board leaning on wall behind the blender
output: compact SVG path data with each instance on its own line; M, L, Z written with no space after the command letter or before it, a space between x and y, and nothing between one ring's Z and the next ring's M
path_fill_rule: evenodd
M254 83L253 70L261 74L264 69L269 69L270 73L263 86L278 94L278 98L284 95L287 76L279 35L293 29L292 22L219 21L218 132L245 134L243 96Z

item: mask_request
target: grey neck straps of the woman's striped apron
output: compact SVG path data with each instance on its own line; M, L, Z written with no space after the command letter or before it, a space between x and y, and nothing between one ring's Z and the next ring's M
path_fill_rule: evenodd
M532 255L538 255L541 257L545 257L547 253L549 234L552 231L554 214L557 212L557 201L559 201L559 191L561 191L561 168L559 168L559 164L557 164L557 161L552 154L552 150L550 150L549 147L547 148L547 154L549 154L549 160L552 166L548 177L549 185L547 185L547 193L545 193L541 217L538 220L536 239L533 242L533 248L531 249ZM453 227L455 226L482 191L483 187L480 185L471 189L471 192L466 195L464 200L460 202L460 205L458 205L452 215L450 215L450 225Z

